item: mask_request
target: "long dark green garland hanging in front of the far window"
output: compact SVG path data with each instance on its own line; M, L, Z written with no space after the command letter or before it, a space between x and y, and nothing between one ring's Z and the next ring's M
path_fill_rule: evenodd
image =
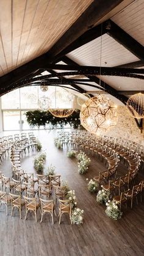
M27 111L25 115L27 122L31 127L43 126L44 128L48 127L50 129L54 129L58 124L60 128L63 128L66 124L70 124L74 129L84 129L84 127L81 126L79 113L80 110L74 110L74 112L67 118L56 118L49 111L33 110Z

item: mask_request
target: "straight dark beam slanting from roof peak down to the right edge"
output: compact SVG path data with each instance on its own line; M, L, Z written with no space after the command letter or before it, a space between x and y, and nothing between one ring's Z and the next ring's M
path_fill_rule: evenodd
M124 48L131 51L141 61L144 61L144 47L112 20L107 21L107 23L109 24L109 26L106 26L107 34L123 45Z

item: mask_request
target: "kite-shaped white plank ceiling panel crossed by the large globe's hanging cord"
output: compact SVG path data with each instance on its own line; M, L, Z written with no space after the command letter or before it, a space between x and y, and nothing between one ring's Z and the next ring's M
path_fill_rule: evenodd
M139 59L124 48L112 37L104 34L101 38L92 40L82 47L68 53L68 58L85 66L113 67L128 62L139 61Z

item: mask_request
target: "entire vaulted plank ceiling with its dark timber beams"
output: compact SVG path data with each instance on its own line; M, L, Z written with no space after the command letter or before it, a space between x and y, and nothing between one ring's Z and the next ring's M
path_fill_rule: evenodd
M1 0L0 95L45 83L126 104L144 92L143 10L143 0Z

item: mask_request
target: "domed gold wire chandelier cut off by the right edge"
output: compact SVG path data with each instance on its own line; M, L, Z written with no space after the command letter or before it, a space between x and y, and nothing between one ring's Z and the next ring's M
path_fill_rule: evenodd
M141 92L132 95L126 104L126 107L133 118L144 118L144 94Z

